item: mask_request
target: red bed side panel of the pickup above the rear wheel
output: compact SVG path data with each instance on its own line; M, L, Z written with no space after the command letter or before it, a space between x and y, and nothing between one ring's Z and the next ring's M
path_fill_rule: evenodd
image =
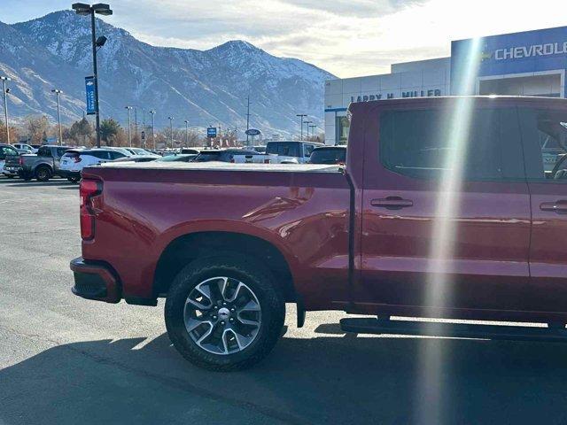
M178 236L257 236L287 260L308 309L347 298L350 189L344 174L87 168L104 182L84 259L105 260L125 296L150 298L159 256Z

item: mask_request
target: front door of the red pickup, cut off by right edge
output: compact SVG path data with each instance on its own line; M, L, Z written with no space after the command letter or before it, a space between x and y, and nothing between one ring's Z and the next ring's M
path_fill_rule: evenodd
M554 103L556 104L556 103ZM519 109L532 199L532 309L567 312L567 110Z

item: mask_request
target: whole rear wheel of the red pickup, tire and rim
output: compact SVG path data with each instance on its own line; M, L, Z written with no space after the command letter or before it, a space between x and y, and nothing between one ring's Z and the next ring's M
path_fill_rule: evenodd
M167 333L198 367L229 371L266 357L281 335L285 303L273 275L254 259L197 259L167 293Z

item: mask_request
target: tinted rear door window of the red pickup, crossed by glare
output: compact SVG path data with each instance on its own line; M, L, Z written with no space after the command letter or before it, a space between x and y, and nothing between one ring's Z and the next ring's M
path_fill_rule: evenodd
M451 112L388 111L380 118L380 157L386 168L412 177L439 177L459 166L467 180L524 177L517 113L478 109L470 126L452 130ZM464 132L464 136L454 136ZM453 140L452 140L453 139ZM457 144L458 143L458 144Z

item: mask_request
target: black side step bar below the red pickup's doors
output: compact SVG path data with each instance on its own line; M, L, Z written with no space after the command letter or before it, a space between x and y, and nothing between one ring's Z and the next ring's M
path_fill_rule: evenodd
M341 319L346 332L378 335L445 336L453 338L501 339L567 343L567 328L472 325L431 321L391 321L390 319Z

